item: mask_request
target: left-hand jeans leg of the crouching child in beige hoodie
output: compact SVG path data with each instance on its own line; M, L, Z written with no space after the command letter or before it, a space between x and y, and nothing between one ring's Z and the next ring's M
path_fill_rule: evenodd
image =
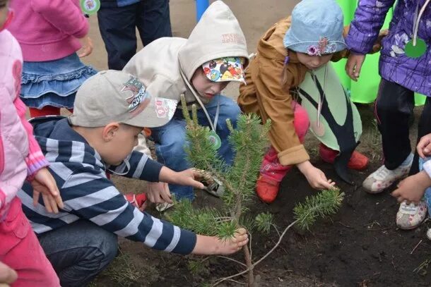
M184 171L191 166L187 161L184 150L186 142L186 122L177 111L174 118L165 126L151 129L151 138L155 141L155 154L160 163L174 171ZM170 192L175 194L177 200L194 199L191 186L169 185Z

